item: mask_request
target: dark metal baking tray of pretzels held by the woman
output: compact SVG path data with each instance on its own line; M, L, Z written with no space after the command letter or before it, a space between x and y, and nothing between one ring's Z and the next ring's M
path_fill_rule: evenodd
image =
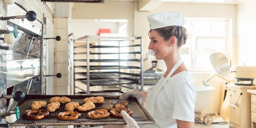
M107 125L107 124L125 124L125 121L123 118L117 118L114 116L108 116L106 118L102 119L89 119L87 118L87 113L89 111L79 111L75 109L74 111L77 111L81 113L81 116L72 121L68 120L60 120L57 118L58 113L64 112L65 104L61 104L60 107L53 113L50 113L49 116L45 116L43 119L40 120L26 120L23 119L23 113L26 110L31 109L30 105L33 101L39 101L44 100L49 102L49 99L54 96L65 96L65 95L25 95L25 98L22 102L18 103L18 106L20 108L20 119L17 119L16 122L10 123L10 126L35 126L35 125ZM105 98L106 102L107 100L112 100L114 103L118 101L119 96L104 96L104 95L68 95L66 97L71 99L71 102L78 102L79 105L83 105L83 99L86 97L91 96L103 96ZM101 109L102 104L95 104L96 108L92 110ZM47 105L40 108L42 110L47 110ZM136 98L130 97L128 98L128 106L126 108L129 108L133 114L132 118L138 123L138 124L153 124L154 120L152 117L145 111L143 106L140 104L140 102L137 101ZM90 111L92 111L90 110Z

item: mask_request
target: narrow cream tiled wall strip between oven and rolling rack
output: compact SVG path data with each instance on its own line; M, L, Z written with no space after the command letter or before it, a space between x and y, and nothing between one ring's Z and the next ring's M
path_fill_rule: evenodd
M54 17L55 36L60 36L61 41L54 41L54 69L55 74L61 73L62 77L55 77L54 94L67 95L67 33L68 17Z

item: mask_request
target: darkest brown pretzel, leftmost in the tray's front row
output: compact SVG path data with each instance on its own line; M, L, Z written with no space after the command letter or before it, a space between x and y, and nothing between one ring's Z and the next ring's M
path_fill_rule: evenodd
M33 114L37 114L37 115L33 116ZM29 120L43 119L44 116L49 116L49 112L45 111L45 110L30 109L30 110L26 110L23 113L23 118L24 119L29 119Z

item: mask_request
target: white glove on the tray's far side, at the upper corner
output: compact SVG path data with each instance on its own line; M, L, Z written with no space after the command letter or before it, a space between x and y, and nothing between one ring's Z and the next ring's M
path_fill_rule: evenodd
M129 97L135 97L139 102L143 102L143 99L140 95L140 90L138 87L134 88L133 90L129 90L126 93L123 93L119 96L119 99L128 99Z

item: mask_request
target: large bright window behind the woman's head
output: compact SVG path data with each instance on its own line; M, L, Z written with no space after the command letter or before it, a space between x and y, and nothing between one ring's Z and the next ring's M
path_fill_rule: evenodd
M221 52L230 56L227 19L186 19L188 40L180 48L180 55L190 71L215 71L210 55Z

